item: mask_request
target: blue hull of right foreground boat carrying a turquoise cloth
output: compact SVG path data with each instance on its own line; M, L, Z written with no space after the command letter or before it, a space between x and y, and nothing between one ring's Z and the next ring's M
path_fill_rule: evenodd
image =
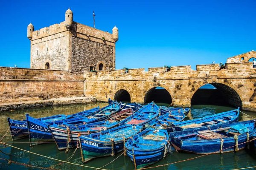
M247 141L252 138L253 133L256 132L255 130L255 120L253 121L244 121L244 122L237 122L237 123L229 123L226 125L215 125L207 130L214 131L215 129L219 128L229 128L230 126L243 124L249 130L248 135L247 133L243 133L238 136L237 144L236 140L233 136L223 136L218 133L220 137L217 136L218 139L209 138L204 139L201 136L201 133L198 134L198 131L201 130L189 130L183 131L181 133L169 133L170 140L172 145L175 147L177 151L189 152L189 153L196 153L196 154L212 154L212 153L221 153L221 152L233 152L236 149L236 146L239 150L244 149L247 146ZM203 130L202 130L203 131ZM204 134L204 133L202 133ZM226 134L228 135L228 133ZM223 140L221 140L223 139ZM221 146L222 145L222 146Z

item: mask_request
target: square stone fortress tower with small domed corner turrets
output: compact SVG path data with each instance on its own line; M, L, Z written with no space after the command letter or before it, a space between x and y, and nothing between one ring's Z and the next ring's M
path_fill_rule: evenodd
M30 67L70 72L115 69L118 28L112 31L110 34L74 22L70 8L60 24L34 31L30 23Z

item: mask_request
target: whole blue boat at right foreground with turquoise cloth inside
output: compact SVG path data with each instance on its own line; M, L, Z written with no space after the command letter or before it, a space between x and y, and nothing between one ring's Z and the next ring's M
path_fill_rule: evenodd
M214 125L210 128L169 133L177 151L196 154L233 152L244 149L252 138L256 120Z

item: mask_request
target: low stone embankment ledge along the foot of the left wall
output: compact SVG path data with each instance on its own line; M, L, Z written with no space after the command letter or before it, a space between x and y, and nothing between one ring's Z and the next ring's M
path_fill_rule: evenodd
M33 108L33 107L44 107L52 105L74 105L74 104L89 104L96 102L96 98L93 97L61 97L55 99L45 99L45 100L26 100L19 102L9 102L1 103L0 111L6 110L17 110L23 108Z

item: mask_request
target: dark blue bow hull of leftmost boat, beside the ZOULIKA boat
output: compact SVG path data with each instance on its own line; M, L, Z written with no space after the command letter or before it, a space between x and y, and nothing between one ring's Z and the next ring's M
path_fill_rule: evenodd
M23 121L8 118L7 121L13 141L27 138L29 136L29 129L26 120Z

